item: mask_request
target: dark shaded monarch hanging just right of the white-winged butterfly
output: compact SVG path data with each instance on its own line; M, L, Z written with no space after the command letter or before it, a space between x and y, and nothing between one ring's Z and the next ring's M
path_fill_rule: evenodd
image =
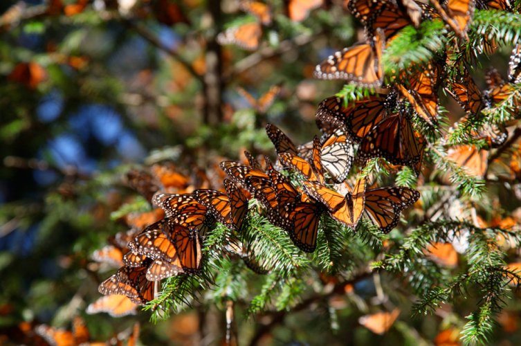
M408 165L416 174L421 170L425 139L414 131L412 123L399 111L373 127L360 143L362 160L384 157L394 165Z

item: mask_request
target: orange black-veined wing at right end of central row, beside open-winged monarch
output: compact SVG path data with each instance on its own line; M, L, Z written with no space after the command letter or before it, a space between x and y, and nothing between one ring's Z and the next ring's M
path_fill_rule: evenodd
M392 187L367 190L365 211L383 233L389 233L400 220L400 212L420 198L410 188Z

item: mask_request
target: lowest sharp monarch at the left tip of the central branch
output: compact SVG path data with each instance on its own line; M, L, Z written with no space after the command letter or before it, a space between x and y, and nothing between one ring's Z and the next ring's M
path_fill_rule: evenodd
M147 280L147 261L145 266L131 268L122 266L118 271L102 282L98 291L102 295L125 295L138 305L154 299L154 282Z

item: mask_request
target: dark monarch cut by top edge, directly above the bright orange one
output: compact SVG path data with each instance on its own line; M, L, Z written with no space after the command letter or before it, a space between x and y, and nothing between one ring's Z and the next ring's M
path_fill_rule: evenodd
M345 7L365 26L369 35L381 28L387 39L405 26L419 26L422 15L421 7L412 0L351 0L345 2Z

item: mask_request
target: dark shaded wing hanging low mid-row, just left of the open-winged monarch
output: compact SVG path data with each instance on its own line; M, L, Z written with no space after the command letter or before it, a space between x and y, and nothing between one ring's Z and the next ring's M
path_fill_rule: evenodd
M289 215L292 227L289 237L300 250L312 253L317 246L318 221L322 215L318 203L298 203Z

